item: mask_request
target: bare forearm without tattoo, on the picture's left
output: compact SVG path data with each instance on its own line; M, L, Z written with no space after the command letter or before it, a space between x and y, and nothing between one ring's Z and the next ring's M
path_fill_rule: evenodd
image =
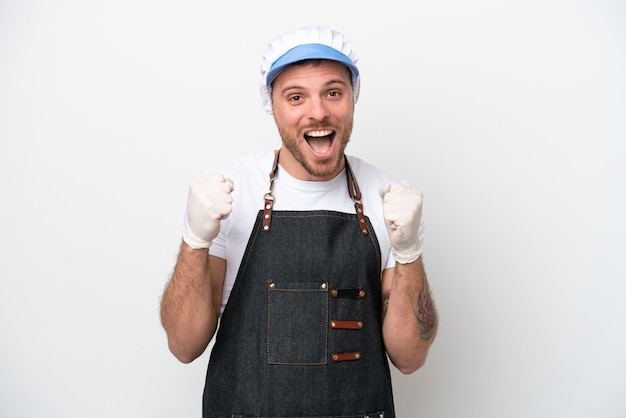
M161 323L170 351L180 361L191 362L206 349L217 327L206 250L181 245L161 301Z

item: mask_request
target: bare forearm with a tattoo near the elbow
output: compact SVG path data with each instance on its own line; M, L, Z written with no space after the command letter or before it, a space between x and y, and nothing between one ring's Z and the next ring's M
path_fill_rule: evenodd
M393 364L412 373L426 361L437 313L421 258L397 264L390 276L383 281L383 338Z

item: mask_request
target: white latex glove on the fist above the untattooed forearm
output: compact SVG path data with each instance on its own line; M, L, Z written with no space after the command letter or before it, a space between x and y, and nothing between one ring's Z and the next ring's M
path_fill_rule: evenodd
M189 183L187 220L183 240L194 250L209 248L220 232L220 221L232 211L233 181L223 174L209 174Z

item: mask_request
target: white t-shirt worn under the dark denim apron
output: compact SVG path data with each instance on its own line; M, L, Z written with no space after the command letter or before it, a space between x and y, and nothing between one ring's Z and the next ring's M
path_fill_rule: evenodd
M205 174L222 173L233 180L233 210L222 221L220 233L209 248L211 255L226 260L226 277L222 294L221 312L235 283L239 264L250 238L257 213L263 209L264 196L269 191L269 173L274 151L264 151L209 167ZM395 265L391 244L383 220L382 201L378 189L389 183L404 183L365 161L348 156L348 161L361 190L363 212L374 227L381 251L381 269ZM354 214L355 208L348 194L345 170L329 181L302 181L290 176L278 166L272 190L275 211L333 210ZM420 228L420 238L421 238Z

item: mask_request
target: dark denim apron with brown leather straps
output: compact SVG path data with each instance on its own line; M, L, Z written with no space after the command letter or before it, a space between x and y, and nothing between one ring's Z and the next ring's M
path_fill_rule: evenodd
M203 417L395 417L380 250L356 214L259 211L211 352Z

